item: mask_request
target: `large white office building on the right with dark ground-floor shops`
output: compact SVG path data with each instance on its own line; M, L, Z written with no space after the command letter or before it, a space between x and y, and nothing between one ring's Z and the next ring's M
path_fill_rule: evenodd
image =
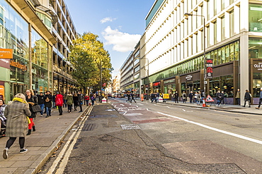
M140 87L149 90L144 92L188 94L205 87L211 96L224 91L227 104L236 104L239 88L241 101L249 89L253 104L258 102L262 1L156 0L145 20ZM212 67L207 68L205 60L210 59Z

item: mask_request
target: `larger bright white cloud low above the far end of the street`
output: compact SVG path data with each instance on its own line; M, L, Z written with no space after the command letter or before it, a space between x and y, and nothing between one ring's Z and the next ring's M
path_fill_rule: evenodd
M120 32L118 29L112 30L110 26L103 31L103 37L106 39L106 44L113 45L113 50L120 52L132 51L135 48L141 35L130 35L125 32Z

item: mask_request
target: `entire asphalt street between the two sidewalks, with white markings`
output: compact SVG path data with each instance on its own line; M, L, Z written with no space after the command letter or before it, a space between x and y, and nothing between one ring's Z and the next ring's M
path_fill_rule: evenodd
M58 168L61 173L261 173L259 115L150 101L132 104L126 99L109 101L110 104L93 107L78 132L79 137L74 138L74 147L59 149L67 151L66 160L61 162L64 164L52 170ZM53 161L50 160L41 173L47 173Z

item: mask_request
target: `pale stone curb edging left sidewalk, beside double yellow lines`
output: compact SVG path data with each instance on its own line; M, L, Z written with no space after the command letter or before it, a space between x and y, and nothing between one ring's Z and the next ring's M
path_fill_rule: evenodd
M81 113L76 119L62 132L59 137L55 140L55 142L52 143L52 145L40 156L37 160L28 168L28 170L25 171L24 174L35 174L38 173L38 171L42 168L42 166L45 165L46 161L50 159L50 156L52 156L55 149L57 149L59 143L64 139L64 137L67 136L70 130L72 130L73 126L76 124L76 122L79 120L79 118L86 113L86 110L89 109L89 106L86 107L83 113Z

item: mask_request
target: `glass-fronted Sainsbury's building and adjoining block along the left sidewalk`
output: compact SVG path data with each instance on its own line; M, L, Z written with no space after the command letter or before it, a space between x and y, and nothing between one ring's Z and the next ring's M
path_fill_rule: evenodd
M74 35L63 0L0 0L0 52L12 51L11 58L1 54L0 97L10 101L29 88L70 89L74 80L66 58Z

